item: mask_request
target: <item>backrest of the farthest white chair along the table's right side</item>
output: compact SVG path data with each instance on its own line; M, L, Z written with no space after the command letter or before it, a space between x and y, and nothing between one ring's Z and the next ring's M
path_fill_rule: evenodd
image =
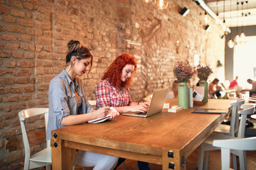
M231 120L230 120L230 134L235 137L235 132L238 132L240 106L245 103L245 100L238 100L235 103L230 103L232 106Z

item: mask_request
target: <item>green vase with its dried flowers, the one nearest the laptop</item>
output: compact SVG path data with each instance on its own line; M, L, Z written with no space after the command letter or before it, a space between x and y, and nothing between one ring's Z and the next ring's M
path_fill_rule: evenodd
M188 108L188 84L187 81L196 74L195 67L188 62L177 61L174 65L174 75L180 82L178 84L178 106Z

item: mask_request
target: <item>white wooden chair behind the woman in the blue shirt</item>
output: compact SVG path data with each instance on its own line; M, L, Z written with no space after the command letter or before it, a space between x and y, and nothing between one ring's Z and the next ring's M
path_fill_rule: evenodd
M23 138L23 145L25 149L25 160L24 160L24 170L34 169L41 166L46 166L47 170L50 170L50 164L52 164L51 159L51 148L50 140L46 142L46 149L37 152L31 156L31 150L28 143L28 136L26 134L25 120L31 118L35 115L45 115L46 128L48 124L48 108L28 108L26 110L20 111L18 113L18 118L21 123L21 132Z

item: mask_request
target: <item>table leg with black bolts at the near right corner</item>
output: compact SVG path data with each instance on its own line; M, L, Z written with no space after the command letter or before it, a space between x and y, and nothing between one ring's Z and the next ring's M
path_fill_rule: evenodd
M186 170L186 159L177 151L163 149L162 151L162 169L182 169Z

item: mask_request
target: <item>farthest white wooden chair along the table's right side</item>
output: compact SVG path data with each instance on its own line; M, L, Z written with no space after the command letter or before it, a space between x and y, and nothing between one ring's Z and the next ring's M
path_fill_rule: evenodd
M235 133L238 132L238 123L239 123L238 111L240 111L240 106L244 103L245 103L245 100L238 100L235 103L230 103L230 105L232 106L230 125L220 124L213 132L235 137Z

